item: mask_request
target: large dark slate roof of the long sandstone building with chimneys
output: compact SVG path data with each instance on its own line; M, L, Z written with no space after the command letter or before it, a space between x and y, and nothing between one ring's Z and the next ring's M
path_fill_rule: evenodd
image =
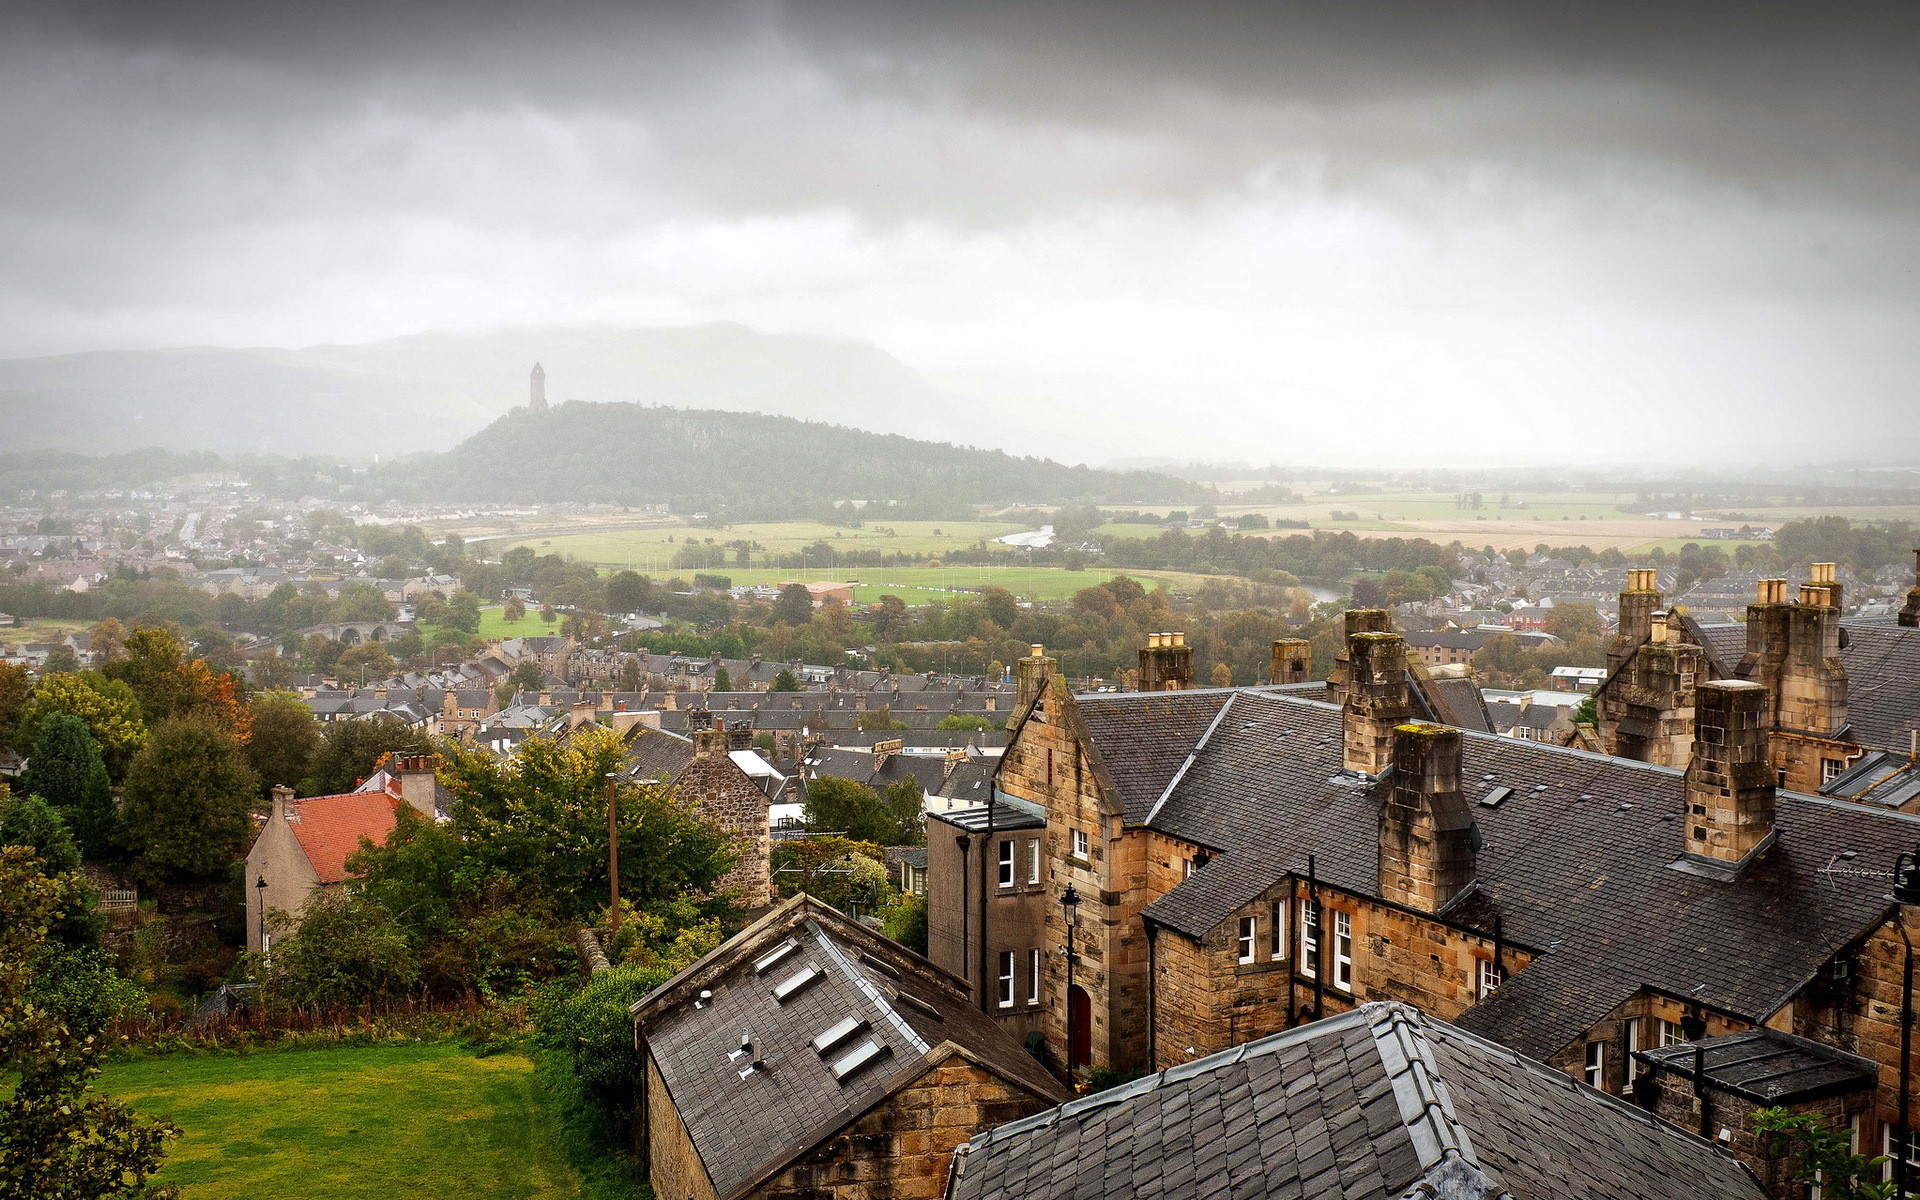
M1461 733L1461 758L1484 847L1442 916L1488 935L1498 916L1538 954L1461 1025L1540 1058L1644 987L1763 1021L1889 910L1884 879L1828 870L1837 854L1891 866L1920 839L1920 818L1780 793L1778 841L1720 883L1670 870L1682 772L1482 733ZM1308 856L1323 883L1379 895L1386 783L1340 760L1336 707L1238 693L1152 820L1215 856L1144 916L1204 937ZM1494 787L1513 793L1478 804Z

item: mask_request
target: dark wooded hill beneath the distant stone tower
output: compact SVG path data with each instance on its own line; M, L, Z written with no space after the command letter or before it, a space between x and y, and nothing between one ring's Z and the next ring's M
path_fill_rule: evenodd
M382 463L388 495L449 501L672 503L676 511L793 511L893 501L912 511L975 503L1173 503L1171 476L1064 467L1000 451L764 417L626 403L516 409L444 455Z

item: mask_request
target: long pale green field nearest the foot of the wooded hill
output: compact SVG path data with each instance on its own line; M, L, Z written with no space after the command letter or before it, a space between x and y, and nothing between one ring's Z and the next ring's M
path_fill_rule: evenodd
M883 551L902 555L939 557L956 549L966 549L983 538L1018 534L1027 526L995 520L893 520L876 522L866 528L849 530L814 520L781 520L772 524L735 524L724 530L685 524L662 524L637 530L582 530L578 534L551 534L520 540L486 541L488 553L526 545L541 555L572 555L582 563L605 566L632 566L647 574L664 574L674 555L687 541L753 541L755 555L787 555L806 549L816 541L826 541L833 549Z

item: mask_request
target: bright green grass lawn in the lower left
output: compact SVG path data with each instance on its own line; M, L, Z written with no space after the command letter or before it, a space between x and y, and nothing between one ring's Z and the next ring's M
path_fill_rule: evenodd
M449 1044L169 1056L100 1089L184 1133L182 1200L576 1200L534 1064Z

